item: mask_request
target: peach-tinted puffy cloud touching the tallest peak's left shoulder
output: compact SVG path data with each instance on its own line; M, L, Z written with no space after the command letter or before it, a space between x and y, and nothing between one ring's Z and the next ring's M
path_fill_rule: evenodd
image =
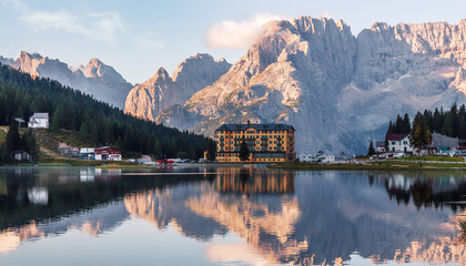
M244 49L263 37L262 25L271 20L285 19L282 16L257 13L250 20L235 22L224 20L213 24L206 32L206 41L211 48Z

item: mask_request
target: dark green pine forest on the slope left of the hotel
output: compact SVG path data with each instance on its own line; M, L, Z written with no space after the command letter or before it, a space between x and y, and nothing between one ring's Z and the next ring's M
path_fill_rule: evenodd
M122 150L123 156L196 158L213 146L211 139L138 120L57 81L33 79L0 64L0 125L11 125L16 117L28 122L34 112L50 114L51 131L78 132L94 146Z

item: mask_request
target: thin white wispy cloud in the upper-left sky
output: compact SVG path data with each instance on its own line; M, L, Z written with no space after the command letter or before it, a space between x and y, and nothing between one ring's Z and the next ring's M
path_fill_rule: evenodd
M113 42L123 23L116 12L91 13L77 17L65 10L33 11L23 13L21 20L34 31L64 31L87 35L105 42Z

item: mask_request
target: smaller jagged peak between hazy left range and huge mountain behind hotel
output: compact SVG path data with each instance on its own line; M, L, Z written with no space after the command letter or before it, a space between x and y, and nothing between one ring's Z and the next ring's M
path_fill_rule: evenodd
M131 90L124 112L155 121L163 110L183 105L195 92L226 73L230 66L224 59L214 61L209 54L196 54L180 63L172 76L160 68L151 79Z

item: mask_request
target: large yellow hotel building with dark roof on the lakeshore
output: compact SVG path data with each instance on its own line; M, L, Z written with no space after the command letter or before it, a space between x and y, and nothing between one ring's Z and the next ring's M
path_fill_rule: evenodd
M249 162L290 162L294 152L294 127L286 124L223 124L215 131L216 161L241 162L240 145L250 149Z

